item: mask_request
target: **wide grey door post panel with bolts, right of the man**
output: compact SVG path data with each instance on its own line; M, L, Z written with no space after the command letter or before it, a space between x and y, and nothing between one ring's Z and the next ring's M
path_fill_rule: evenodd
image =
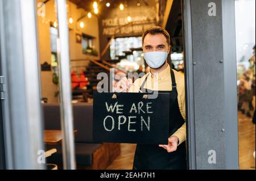
M208 4L216 3L216 16ZM191 1L197 169L225 168L224 66L221 1ZM216 163L208 163L208 151Z

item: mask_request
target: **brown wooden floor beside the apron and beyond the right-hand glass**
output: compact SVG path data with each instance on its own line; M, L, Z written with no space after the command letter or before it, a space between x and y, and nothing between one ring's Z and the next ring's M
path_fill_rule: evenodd
M251 118L247 118L238 112L238 134L239 134L239 162L240 169L254 169L255 159L255 124ZM133 168L135 144L121 144L121 154L109 165L109 170L130 170Z

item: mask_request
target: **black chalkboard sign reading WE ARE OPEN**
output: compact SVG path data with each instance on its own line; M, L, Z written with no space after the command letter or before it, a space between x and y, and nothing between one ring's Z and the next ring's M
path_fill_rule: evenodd
M168 144L170 94L94 92L94 142Z

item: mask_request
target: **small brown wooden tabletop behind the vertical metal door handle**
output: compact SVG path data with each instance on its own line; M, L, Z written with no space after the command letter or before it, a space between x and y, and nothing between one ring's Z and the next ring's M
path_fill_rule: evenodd
M77 130L73 131L74 134L77 133ZM57 145L61 142L63 136L61 130L44 130L44 143L47 145Z

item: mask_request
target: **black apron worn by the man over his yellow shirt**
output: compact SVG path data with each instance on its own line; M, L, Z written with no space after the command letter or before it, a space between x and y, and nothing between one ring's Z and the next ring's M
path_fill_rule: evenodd
M148 75L147 75L148 76ZM174 71L171 69L172 91L158 91L170 93L170 122L169 122L169 137L174 134L184 124L184 119L181 116L179 103L177 101L177 89ZM142 83L141 90L147 81L147 77ZM147 91L147 89L146 89ZM151 91L152 92L152 91ZM186 145L185 141L177 146L177 150L168 153L166 149L158 145L137 144L134 162L134 170L154 170L168 169L181 170L187 169L186 161Z

